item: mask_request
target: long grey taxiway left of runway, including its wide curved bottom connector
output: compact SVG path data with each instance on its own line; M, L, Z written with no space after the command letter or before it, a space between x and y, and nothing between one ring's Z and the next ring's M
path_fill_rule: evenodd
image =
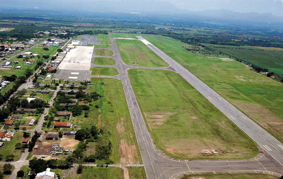
M275 161L269 154L263 154L260 148L260 154L250 159L229 159L229 160L182 160L167 156L162 150L158 149L147 130L145 121L132 89L130 79L127 75L129 65L124 64L118 51L115 40L111 38L112 56L116 68L120 73L123 89L125 92L132 124L134 126L141 158L148 179L168 179L180 178L185 174L204 174L204 173L267 173L280 176L283 167ZM132 68L136 68L132 66ZM161 70L160 68L158 68ZM173 67L174 70L176 70ZM169 70L169 69L162 69ZM177 71L177 70L176 70ZM276 172L276 173L275 173Z

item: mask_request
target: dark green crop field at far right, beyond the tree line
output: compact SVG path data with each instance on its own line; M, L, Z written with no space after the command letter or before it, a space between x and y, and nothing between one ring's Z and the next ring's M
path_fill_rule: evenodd
M279 75L283 74L283 49L281 48L265 48L250 46L221 46L209 45L216 50L228 53L229 55L249 61L261 68L268 68L270 71ZM280 49L280 50L278 50Z

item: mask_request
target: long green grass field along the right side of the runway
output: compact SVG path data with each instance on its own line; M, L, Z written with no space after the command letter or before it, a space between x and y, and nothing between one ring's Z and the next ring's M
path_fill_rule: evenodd
M240 62L211 60L204 55L188 52L182 48L185 43L180 41L143 36L283 142L281 83L252 72ZM234 76L243 76L246 81Z

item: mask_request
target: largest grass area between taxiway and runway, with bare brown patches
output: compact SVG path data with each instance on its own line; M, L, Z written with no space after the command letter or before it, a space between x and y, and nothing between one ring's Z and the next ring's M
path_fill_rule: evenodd
M156 146L169 156L218 159L258 154L254 141L179 74L136 69L128 74ZM213 149L219 154L204 154Z

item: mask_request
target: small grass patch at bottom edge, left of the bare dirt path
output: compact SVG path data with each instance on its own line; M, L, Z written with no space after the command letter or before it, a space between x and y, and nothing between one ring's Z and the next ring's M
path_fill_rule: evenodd
M80 179L124 179L123 169L117 167L84 167L82 174L77 174Z

